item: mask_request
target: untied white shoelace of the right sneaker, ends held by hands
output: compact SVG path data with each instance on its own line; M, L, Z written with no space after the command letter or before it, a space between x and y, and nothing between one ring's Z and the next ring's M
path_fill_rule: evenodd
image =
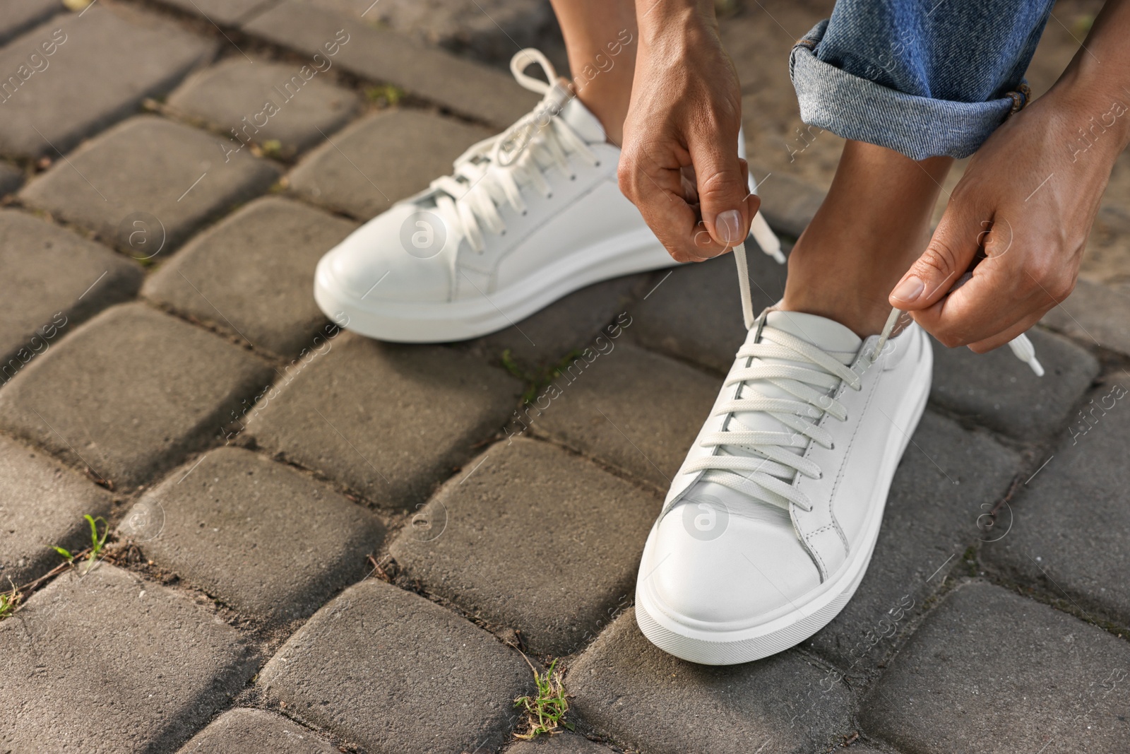
M745 244L733 248L733 257L738 266L741 311L746 329L751 329L756 319ZM887 318L875 348L868 354L872 364L883 353L901 313L893 309ZM811 502L793 486L793 480L798 474L820 478L823 473L816 462L789 449L802 451L810 442L824 448L833 447L832 434L818 426L819 419L828 414L836 419L846 421L846 409L832 395L841 382L853 390L860 390L861 374L817 346L764 322L758 336L757 343L745 344L738 349L737 358L749 359L747 365L731 370L727 376L727 387L739 383L741 387L733 399L720 405L713 414L725 416L723 428L709 433L699 441L702 447L714 448L715 452L692 461L685 471L705 471L704 480L724 485L754 500L785 510L793 503L809 511ZM1037 375L1043 374L1043 367L1036 361L1035 349L1027 337L1022 335L1009 346ZM765 358L793 363L757 361ZM792 398L766 396L758 390L759 384L772 384ZM768 414L782 425L782 431L749 430L737 416L749 411Z

